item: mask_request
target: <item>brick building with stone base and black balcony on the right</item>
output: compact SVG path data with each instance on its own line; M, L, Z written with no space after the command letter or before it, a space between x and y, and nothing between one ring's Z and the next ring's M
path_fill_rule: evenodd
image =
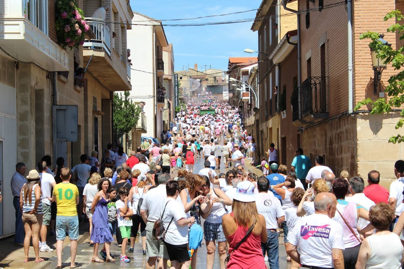
M370 115L370 107L349 113L346 3L338 0L324 2L324 5L323 1L318 0L289 2L288 8L295 9L292 4L297 2L296 10L306 11L300 15L298 41L301 85L291 95L292 123L300 128L297 135L300 136L298 142L301 148L312 163L316 155L324 156L326 165L337 176L345 169L350 175L366 178L370 170L376 169L381 173L381 184L388 186L395 179L394 162L404 157L403 145L388 143L389 137L398 133L394 126L401 116L398 113ZM383 21L383 17L395 9L404 10L403 1L386 0L383 5L377 6L370 0L352 1L352 106L364 98L376 100L384 96L387 79L395 72L392 67L383 71L381 89L377 88L375 94L374 71L368 47L370 40L359 39L361 33L376 31L384 33L384 39L393 48L402 46L396 33L387 33L389 25L396 22ZM286 146L290 144L286 143ZM286 162L289 168L289 156Z

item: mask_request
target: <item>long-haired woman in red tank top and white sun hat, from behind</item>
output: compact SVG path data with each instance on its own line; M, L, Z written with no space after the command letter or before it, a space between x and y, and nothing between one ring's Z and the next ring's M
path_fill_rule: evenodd
M227 268L267 268L261 250L261 242L267 242L265 218L257 212L254 189L255 185L250 181L240 182L233 198L233 212L223 215L223 232L230 247L230 260L227 263ZM250 234L235 249L253 224Z

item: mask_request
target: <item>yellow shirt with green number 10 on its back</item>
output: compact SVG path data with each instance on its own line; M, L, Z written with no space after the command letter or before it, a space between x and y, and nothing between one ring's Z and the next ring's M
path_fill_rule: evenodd
M71 183L59 183L53 188L53 196L56 197L57 216L77 216L76 197L78 188Z

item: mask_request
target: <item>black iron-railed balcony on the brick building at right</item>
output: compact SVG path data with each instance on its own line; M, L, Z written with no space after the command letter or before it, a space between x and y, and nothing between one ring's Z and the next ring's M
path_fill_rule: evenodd
M292 119L296 125L311 125L328 119L328 91L326 77L308 77L301 84L301 111L299 93L292 93Z

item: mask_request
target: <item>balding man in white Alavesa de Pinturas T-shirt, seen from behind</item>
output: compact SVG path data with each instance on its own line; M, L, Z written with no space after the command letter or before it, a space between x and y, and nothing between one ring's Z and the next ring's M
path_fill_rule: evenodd
M301 268L343 269L342 226L332 219L337 210L337 198L322 192L314 200L314 209L315 214L297 221L286 252Z

